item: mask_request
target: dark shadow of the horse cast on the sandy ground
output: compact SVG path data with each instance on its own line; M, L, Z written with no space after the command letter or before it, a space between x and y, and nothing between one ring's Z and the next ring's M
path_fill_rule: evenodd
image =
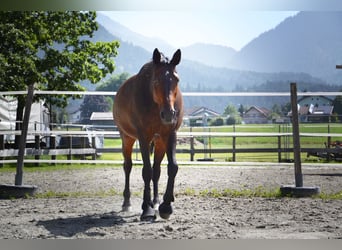
M115 227L131 223L132 219L130 220L129 218L133 217L137 217L137 215L122 216L117 212L111 212L106 214L92 214L79 217L41 220L37 222L37 226L43 226L55 237L73 237L78 233L83 233L89 237L101 237L105 234L97 231L91 231L90 229Z

